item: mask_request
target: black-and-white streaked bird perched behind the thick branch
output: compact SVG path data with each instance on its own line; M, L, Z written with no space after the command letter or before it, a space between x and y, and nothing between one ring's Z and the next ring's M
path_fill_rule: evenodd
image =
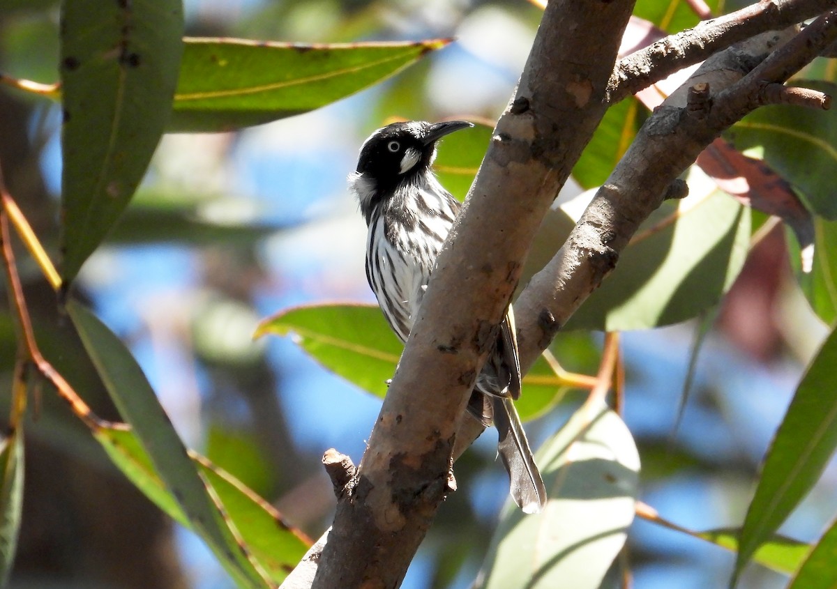
M363 142L348 184L367 223L366 276L390 327L407 341L460 202L442 187L432 165L438 141L472 127L466 120L396 122ZM547 492L514 400L521 392L514 315L506 311L468 402L468 412L498 432L497 450L510 494L525 513L537 513Z

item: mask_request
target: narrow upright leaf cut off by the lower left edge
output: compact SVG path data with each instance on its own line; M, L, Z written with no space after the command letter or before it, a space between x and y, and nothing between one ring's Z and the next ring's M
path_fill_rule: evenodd
M18 550L23 510L23 428L18 425L0 447L0 586L6 586Z

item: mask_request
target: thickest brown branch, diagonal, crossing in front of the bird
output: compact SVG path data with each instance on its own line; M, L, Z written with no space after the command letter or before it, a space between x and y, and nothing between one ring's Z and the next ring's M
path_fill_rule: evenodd
M447 491L465 402L544 213L606 108L631 0L553 0L422 303L315 587L397 587ZM590 43L590 31L608 31ZM504 190L498 190L505 187ZM455 295L453 295L455 293Z

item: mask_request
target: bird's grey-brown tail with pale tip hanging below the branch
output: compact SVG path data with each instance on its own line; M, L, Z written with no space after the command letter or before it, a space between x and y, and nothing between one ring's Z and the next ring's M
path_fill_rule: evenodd
M509 493L527 514L535 514L547 504L547 489L531 454L521 418L511 399L489 397L494 405L494 425L499 439L497 451L509 472Z

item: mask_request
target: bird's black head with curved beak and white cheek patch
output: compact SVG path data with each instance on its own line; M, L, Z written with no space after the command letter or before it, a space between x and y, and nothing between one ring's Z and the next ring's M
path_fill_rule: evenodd
M400 184L428 172L436 155L436 141L472 126L465 120L414 120L382 127L363 143L354 176L362 178L368 192L380 195L394 191Z

